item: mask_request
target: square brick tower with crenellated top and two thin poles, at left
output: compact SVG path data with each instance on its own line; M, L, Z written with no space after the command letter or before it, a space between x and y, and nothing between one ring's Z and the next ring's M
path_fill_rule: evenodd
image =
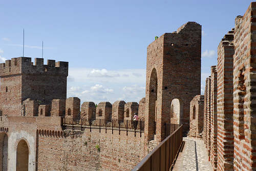
M0 109L3 115L20 116L28 98L50 105L53 99L66 99L68 62L19 57L0 64Z

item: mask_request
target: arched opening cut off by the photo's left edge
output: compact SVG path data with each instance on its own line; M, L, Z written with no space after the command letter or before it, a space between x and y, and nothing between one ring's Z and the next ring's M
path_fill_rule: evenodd
M0 133L0 163L1 170L7 171L8 166L8 135L6 133Z

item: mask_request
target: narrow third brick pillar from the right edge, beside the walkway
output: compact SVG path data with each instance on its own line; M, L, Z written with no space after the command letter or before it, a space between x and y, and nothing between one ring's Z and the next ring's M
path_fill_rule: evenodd
M210 163L217 170L217 70L211 66L210 83Z

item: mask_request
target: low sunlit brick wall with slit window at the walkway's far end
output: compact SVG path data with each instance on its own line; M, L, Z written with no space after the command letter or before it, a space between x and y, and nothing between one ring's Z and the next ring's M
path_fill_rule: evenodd
M201 138L204 126L204 95L196 95L190 102L189 136Z

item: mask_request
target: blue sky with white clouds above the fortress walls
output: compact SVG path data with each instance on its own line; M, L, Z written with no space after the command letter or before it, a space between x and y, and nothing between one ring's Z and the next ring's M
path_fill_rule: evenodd
M221 38L252 1L0 1L0 62L22 56L69 61L68 97L139 102L146 47L187 21L202 25L202 93ZM34 60L34 59L32 59Z

